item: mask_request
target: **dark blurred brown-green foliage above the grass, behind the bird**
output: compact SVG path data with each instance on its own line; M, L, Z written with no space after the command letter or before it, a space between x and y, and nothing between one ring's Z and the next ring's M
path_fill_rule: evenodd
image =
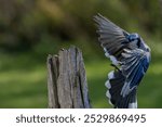
M40 42L95 39L93 16L161 38L159 0L0 0L0 46L25 50Z

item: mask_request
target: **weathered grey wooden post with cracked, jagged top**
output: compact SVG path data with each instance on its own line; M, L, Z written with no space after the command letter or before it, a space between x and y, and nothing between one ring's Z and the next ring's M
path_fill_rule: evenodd
M81 51L71 47L48 56L49 107L89 109L89 90Z

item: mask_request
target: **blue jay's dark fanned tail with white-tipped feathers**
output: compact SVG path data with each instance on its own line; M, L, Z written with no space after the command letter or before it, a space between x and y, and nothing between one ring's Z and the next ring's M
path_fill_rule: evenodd
M136 89L124 98L121 96L121 90L124 86L125 77L120 71L112 71L108 74L108 80L105 86L108 88L106 96L109 98L109 103L118 109L135 109Z

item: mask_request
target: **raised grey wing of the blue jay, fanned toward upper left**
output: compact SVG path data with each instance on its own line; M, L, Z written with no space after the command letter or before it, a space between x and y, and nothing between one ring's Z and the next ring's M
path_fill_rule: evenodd
M126 39L126 36L130 34L100 14L94 16L94 21L97 23L97 33L99 34L98 39L106 55L110 58L112 62L116 60L119 61L123 49L127 47L126 43L129 40Z

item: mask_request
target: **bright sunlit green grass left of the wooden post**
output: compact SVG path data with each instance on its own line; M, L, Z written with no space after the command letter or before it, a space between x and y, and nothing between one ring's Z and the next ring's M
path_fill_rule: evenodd
M45 73L43 66L0 73L0 107L48 107Z

